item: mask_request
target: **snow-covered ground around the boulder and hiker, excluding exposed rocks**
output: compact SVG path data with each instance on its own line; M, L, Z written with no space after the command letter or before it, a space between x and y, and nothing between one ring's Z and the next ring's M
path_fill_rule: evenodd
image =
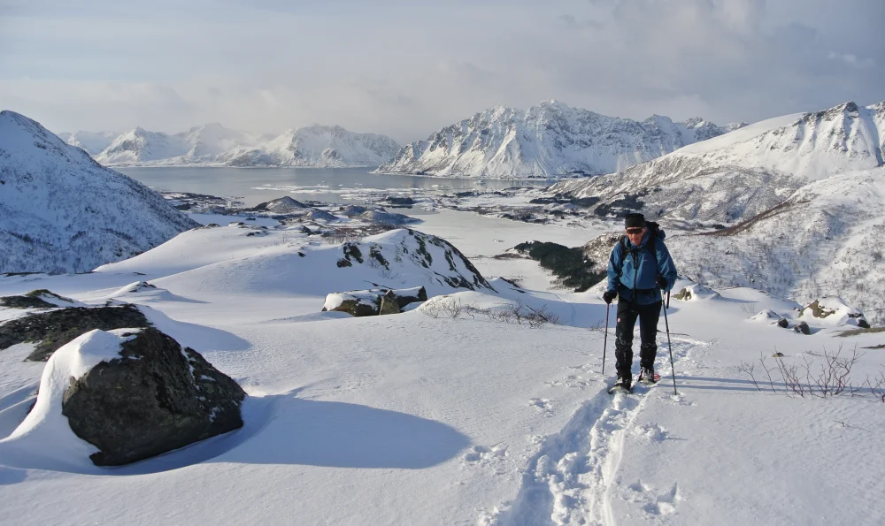
M807 336L767 316L750 320L771 309L794 324L799 313L747 288L673 299L678 394L661 332L661 383L612 397L614 316L603 376L599 291L549 290L536 263L490 257L525 240L578 246L601 230L450 210L420 218L419 231L453 243L495 290L442 298L444 287L419 282L412 267L340 269L335 245L294 229L250 236L237 226L182 233L92 274L0 278L0 295L45 288L140 304L250 395L242 430L123 468L53 462L63 444L9 437L44 364L22 362L29 344L0 351L0 523L885 522L885 404L868 393L788 396L778 377L772 390L759 364L765 357L773 367L780 352L787 364L816 368L825 352L857 347L864 354L850 380L859 386L885 370L882 349L864 348L881 346L885 333L836 338L849 327L807 314ZM516 275L525 289L495 279ZM141 280L158 289L121 288ZM384 280L428 286L436 298L395 316L319 312L326 293ZM441 316L439 301L519 301L562 324Z

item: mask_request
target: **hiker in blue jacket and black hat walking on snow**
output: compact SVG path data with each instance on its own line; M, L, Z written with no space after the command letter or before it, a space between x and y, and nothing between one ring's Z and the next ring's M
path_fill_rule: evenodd
M676 265L664 244L664 231L657 223L646 223L643 214L627 214L627 238L612 249L608 265L608 287L603 294L611 304L618 297L615 329L615 386L630 390L633 385L633 329L639 318L639 380L655 381L658 355L658 318L662 295L676 283Z

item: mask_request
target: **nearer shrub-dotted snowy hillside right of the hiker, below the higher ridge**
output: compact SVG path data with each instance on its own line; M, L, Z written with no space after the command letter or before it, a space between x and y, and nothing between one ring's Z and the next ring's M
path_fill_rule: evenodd
M699 283L840 296L885 324L885 168L815 181L743 224L668 243Z

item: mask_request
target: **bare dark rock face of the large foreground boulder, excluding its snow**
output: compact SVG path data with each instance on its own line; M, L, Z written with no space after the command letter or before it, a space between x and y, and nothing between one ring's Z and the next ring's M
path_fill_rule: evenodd
M242 427L246 393L202 355L149 328L65 391L62 414L100 451L97 466L119 466Z

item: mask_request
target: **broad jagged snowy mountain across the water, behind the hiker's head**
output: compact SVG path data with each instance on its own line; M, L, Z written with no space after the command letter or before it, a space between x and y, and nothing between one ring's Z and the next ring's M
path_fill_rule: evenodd
M643 122L544 101L496 106L399 151L379 172L486 178L553 178L617 172L727 133L701 118Z

